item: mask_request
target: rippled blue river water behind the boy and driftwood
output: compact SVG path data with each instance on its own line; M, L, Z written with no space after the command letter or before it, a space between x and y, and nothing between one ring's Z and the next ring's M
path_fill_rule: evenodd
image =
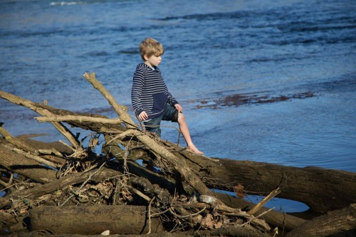
M82 76L94 71L132 114L147 37L163 43L159 68L207 156L356 172L353 0L0 1L0 90L115 117ZM63 139L35 116L0 100L11 134Z

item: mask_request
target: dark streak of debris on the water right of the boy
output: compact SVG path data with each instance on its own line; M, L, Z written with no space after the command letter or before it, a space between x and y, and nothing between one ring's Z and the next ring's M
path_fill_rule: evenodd
M241 106L241 105L253 105L253 104L262 104L262 103L272 103L272 102L281 102L293 99L305 99L314 97L315 94L311 92L297 93L294 95L259 95L259 94L235 94L227 95L224 98L210 98L203 100L194 100L192 102L197 103L195 107L201 109L204 107L212 107L217 109L219 107L226 106Z

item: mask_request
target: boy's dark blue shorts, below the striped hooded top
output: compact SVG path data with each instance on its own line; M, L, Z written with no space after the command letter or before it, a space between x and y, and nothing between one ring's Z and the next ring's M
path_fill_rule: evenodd
M146 131L155 132L160 137L161 129L159 126L161 125L162 120L178 122L178 110L176 110L176 108L172 105L167 104L166 107L164 107L164 112L162 115L154 117L150 121L144 122Z

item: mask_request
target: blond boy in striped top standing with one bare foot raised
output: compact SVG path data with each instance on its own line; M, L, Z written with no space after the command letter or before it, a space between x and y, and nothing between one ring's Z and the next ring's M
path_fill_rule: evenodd
M179 105L164 83L157 66L161 63L164 48L154 38L146 38L140 43L140 54L144 63L137 65L133 76L132 107L140 120L144 121L148 132L161 135L161 120L178 122L179 129L187 142L188 149L203 154L194 146L189 135L187 122Z

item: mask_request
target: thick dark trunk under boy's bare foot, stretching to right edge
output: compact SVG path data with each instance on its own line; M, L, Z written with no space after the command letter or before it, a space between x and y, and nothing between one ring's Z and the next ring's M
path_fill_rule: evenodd
M278 197L300 201L323 214L342 209L356 200L356 173L319 167L285 167L278 164L205 159L187 152L187 165L199 172L206 186L234 191L243 184L253 194L267 195L280 187Z

